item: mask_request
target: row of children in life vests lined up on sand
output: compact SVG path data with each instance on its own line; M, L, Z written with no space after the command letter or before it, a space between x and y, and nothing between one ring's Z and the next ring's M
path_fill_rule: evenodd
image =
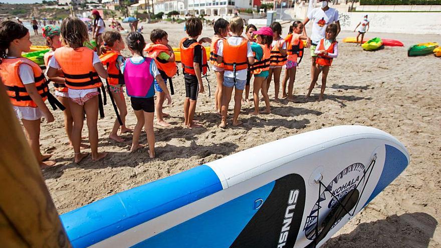
M202 78L206 77L208 61L216 74L217 87L215 92L215 108L220 115L219 127L228 125L228 106L235 90L233 126L239 126L242 101L249 101L251 77L254 75L253 98L255 108L252 115L259 115L259 91L265 100L265 112L270 113L268 89L274 75L275 101L278 101L280 74L286 67L282 83L282 97L293 101L293 85L298 58L302 57L303 42L309 38L302 35L303 25L294 22L290 34L283 39L282 27L273 23L271 27L259 30L254 25L246 28L243 36L244 21L234 17L230 22L218 19L214 23L214 37L201 38L202 23L198 18L189 18L185 24L188 37L179 43L181 66L185 81L184 125L188 128L200 127L194 120L196 101L199 93L204 92ZM318 73L313 78L309 94L317 81L318 74L323 71L323 84L329 71L332 58L335 58L335 35L331 25L328 27L326 39L323 39L316 49ZM22 121L28 141L42 168L55 164L49 160L51 155L40 152L40 122L45 117L47 122L54 117L46 106L46 99L53 106L64 110L64 124L71 146L74 148L74 161L84 159L88 154L82 153L81 133L84 119L89 131L89 143L93 161L106 156L98 152L98 113L103 115L103 100L106 98L105 88L101 78L106 79L107 91L115 109L117 119L109 138L122 142L120 133L133 131L130 151L142 147L139 136L142 128L147 133L148 154L155 157L153 119L156 112L157 124L169 126L163 118L168 114L162 111L167 99L171 104L171 96L166 83L176 74L177 67L173 49L168 45L168 35L165 31L155 29L151 32L152 43L146 44L142 34L129 33L125 42L116 31L107 31L103 35L102 55L85 47L89 42L86 25L78 18L66 18L61 27L45 26L43 36L47 45L52 49L45 54L47 67L46 75L41 68L29 59L23 58L23 52L29 52L30 35L23 25L4 21L0 23L0 79L7 87L14 110ZM211 43L210 56L207 58L203 43ZM127 46L132 54L124 58L121 50ZM144 56L146 52L146 56ZM286 86L288 83L288 93ZM315 81L314 81L315 80ZM54 84L55 96L49 91L49 82ZM133 130L125 126L127 106L123 94L125 85L127 95L137 118ZM243 91L246 91L243 100ZM322 94L324 87L322 86ZM156 103L155 92L158 92ZM104 100L105 102L105 100Z

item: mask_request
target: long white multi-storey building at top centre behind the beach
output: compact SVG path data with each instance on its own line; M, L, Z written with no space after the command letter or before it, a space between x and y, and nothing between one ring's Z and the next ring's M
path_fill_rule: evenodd
M253 0L188 0L187 11L191 15L222 16L251 9L252 5Z

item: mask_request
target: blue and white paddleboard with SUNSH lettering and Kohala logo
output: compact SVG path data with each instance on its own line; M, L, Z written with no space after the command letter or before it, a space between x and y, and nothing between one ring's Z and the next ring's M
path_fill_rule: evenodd
M117 193L61 220L74 247L318 247L408 163L391 135L336 126Z

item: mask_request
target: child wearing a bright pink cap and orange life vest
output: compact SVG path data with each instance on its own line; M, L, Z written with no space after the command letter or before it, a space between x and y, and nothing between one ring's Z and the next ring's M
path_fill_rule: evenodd
M270 98L267 92L267 78L270 70L271 44L273 42L273 30L270 27L260 28L253 32L256 35L257 43L253 43L251 49L256 54L256 61L250 67L251 73L254 75L253 98L254 112L251 115L259 115L259 90L265 100L265 112L271 113Z

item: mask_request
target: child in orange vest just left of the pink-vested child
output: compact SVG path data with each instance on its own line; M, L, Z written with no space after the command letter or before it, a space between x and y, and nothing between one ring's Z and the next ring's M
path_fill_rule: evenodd
M118 129L121 127L121 133L127 133L132 131L127 128L126 116L127 116L127 105L124 99L124 77L121 74L121 66L124 63L124 56L121 55L121 50L125 48L124 41L121 35L116 31L107 31L103 35L104 46L101 48L100 60L103 65L107 67L107 72L109 77L107 78L108 90L112 94L112 98L118 108L118 113L122 121L120 125L119 121L116 119L113 124L112 131L109 134L109 138L117 141L124 142L124 140L118 136Z

